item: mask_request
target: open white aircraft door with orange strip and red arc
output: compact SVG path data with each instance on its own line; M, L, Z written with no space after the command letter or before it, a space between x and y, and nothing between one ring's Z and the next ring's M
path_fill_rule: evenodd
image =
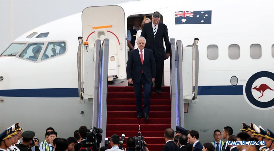
M125 13L120 6L87 7L82 12L83 40L91 46L86 51L93 51L95 40L109 39L108 81L115 84L126 80L125 32Z

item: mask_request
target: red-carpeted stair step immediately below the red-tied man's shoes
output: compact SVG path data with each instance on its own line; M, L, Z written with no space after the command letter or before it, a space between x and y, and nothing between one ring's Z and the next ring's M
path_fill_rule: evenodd
M149 118L149 120L145 120L141 118L141 124L170 124L171 118ZM139 120L135 118L107 118L107 124L138 124Z

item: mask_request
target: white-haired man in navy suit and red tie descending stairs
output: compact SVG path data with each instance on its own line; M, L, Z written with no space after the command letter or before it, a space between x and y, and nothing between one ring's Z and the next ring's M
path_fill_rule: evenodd
M133 84L136 98L137 118L142 116L142 86L144 86L144 118L149 119L151 85L155 81L156 65L153 52L144 48L146 39L137 39L138 48L130 51L126 65L129 84Z

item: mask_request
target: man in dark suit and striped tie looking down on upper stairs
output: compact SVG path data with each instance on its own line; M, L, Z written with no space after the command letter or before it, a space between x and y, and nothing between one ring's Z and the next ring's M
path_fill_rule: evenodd
M145 48L151 49L155 56L156 62L156 79L155 79L155 93L161 93L162 76L165 57L170 55L170 42L165 24L160 23L160 13L154 12L152 15L152 22L144 24L141 36L147 39ZM163 39L165 41L165 49ZM165 56L166 55L166 56Z

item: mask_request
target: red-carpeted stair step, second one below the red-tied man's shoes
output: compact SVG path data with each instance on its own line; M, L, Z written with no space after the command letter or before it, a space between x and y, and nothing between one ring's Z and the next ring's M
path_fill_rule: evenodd
M170 124L141 124L141 131L162 131L166 128L170 128ZM138 124L107 124L107 129L111 129L113 131L119 131L123 128L125 131L135 131L138 130Z

